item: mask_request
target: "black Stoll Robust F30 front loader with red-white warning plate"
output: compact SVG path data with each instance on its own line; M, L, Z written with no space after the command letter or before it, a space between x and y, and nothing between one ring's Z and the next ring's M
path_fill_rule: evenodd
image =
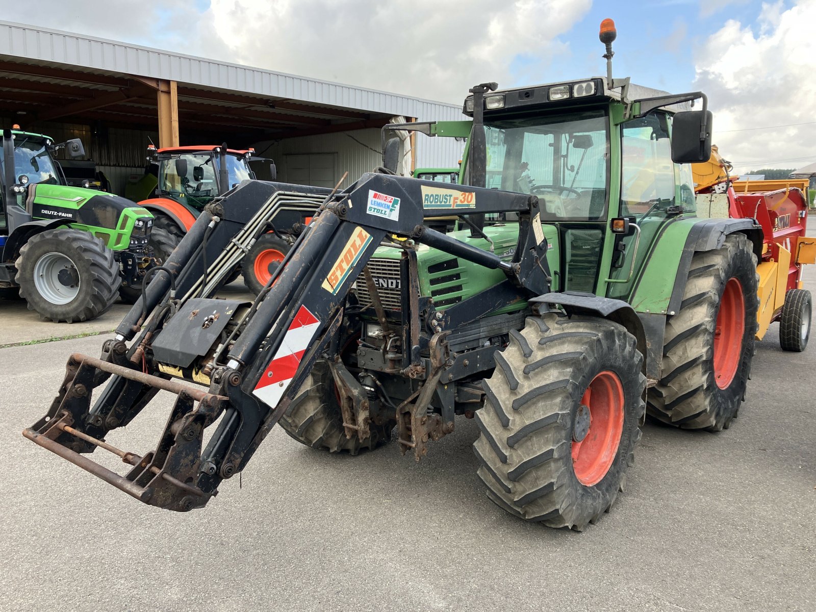
M176 511L202 507L221 480L246 466L315 361L328 352L353 283L389 237L427 242L500 268L526 297L548 291L546 241L534 196L441 188L381 174L363 175L344 193L286 188L247 181L208 206L165 264L166 272L153 277L144 303L134 305L116 339L105 344L102 359L73 355L51 409L24 436L145 503ZM214 299L234 269L229 266L239 263L231 253L268 231L267 221L280 218L275 216L280 211L317 200L322 203L312 222L253 304ZM515 259L503 261L424 226L425 217L463 212L516 213ZM522 250L532 256L521 258ZM241 308L244 314L233 327L218 321ZM197 342L206 344L198 353ZM203 369L192 369L196 354L209 360ZM209 388L170 379L171 374ZM93 390L108 378L91 405ZM140 456L104 442L107 432L130 423L159 389L177 399L155 450ZM204 430L216 422L204 447ZM82 455L97 447L121 456L131 471L119 476Z

